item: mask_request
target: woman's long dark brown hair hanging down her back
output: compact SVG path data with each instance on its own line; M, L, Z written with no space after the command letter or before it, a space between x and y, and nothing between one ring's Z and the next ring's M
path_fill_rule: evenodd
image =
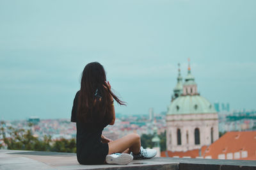
M88 123L111 123L111 95L118 104L125 105L106 86L106 73L98 62L88 63L83 70L81 89L78 97L77 117L79 121Z

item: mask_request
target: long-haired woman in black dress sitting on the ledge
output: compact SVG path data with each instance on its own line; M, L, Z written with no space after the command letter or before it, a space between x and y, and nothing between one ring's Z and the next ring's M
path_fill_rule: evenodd
M79 164L129 164L132 158L156 155L156 150L141 147L138 134L129 134L115 141L102 135L104 127L115 123L114 100L125 105L111 91L103 66L97 62L88 63L83 70L81 89L74 98L71 116L77 127Z

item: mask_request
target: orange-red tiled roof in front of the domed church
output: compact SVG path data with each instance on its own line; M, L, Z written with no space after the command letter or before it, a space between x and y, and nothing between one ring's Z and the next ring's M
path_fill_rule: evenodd
M243 151L247 151L247 157L242 158ZM200 150L183 151L162 151L161 157L199 157ZM227 132L220 137L217 141L210 146L202 146L201 157L211 156L211 158L218 158L218 155L225 154L227 159L227 153L231 153L233 159L234 153L240 155L240 160L256 160L256 131L246 132Z

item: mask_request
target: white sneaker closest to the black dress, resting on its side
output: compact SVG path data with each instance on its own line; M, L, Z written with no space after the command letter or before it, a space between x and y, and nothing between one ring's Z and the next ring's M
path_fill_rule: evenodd
M113 153L106 156L107 164L126 165L132 162L133 157L127 153Z

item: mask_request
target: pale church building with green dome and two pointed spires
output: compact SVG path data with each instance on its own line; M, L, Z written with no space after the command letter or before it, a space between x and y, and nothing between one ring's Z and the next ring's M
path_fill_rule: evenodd
M184 83L179 68L177 85L173 89L172 102L166 114L166 149L200 149L218 138L218 113L214 106L198 93L190 66Z

